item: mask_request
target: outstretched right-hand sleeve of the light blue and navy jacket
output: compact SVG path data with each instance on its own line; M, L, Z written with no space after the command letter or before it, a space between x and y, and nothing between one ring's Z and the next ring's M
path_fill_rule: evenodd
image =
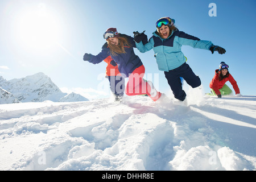
M191 46L193 48L209 50L210 47L213 46L213 43L210 41L200 40L199 38L196 38L195 36L192 36L192 35L188 35L182 31L177 32L177 40L179 44L184 46Z

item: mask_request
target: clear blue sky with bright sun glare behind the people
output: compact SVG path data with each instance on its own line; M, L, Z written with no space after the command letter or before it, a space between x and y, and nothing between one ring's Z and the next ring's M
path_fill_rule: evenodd
M210 3L216 4L217 16L209 16ZM146 30L150 38L156 20L170 16L180 31L226 49L225 55L212 55L203 49L182 48L205 92L210 90L214 70L225 61L241 94L256 95L255 10L254 0L1 0L0 75L11 80L43 72L64 91L73 90L90 99L98 94L108 97L106 63L85 62L84 53L101 51L102 35L109 27L130 36L133 31ZM135 53L146 68L146 78L152 75L160 92L170 93L154 51Z

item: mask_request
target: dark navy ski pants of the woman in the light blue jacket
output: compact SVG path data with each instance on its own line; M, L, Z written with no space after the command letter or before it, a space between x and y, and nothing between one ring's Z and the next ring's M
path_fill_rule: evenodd
M164 72L164 75L172 89L172 93L174 93L174 97L180 101L184 101L187 96L182 89L180 77L183 77L187 84L192 86L192 88L196 88L201 85L199 76L195 75L187 63L184 63L180 67L168 72Z

